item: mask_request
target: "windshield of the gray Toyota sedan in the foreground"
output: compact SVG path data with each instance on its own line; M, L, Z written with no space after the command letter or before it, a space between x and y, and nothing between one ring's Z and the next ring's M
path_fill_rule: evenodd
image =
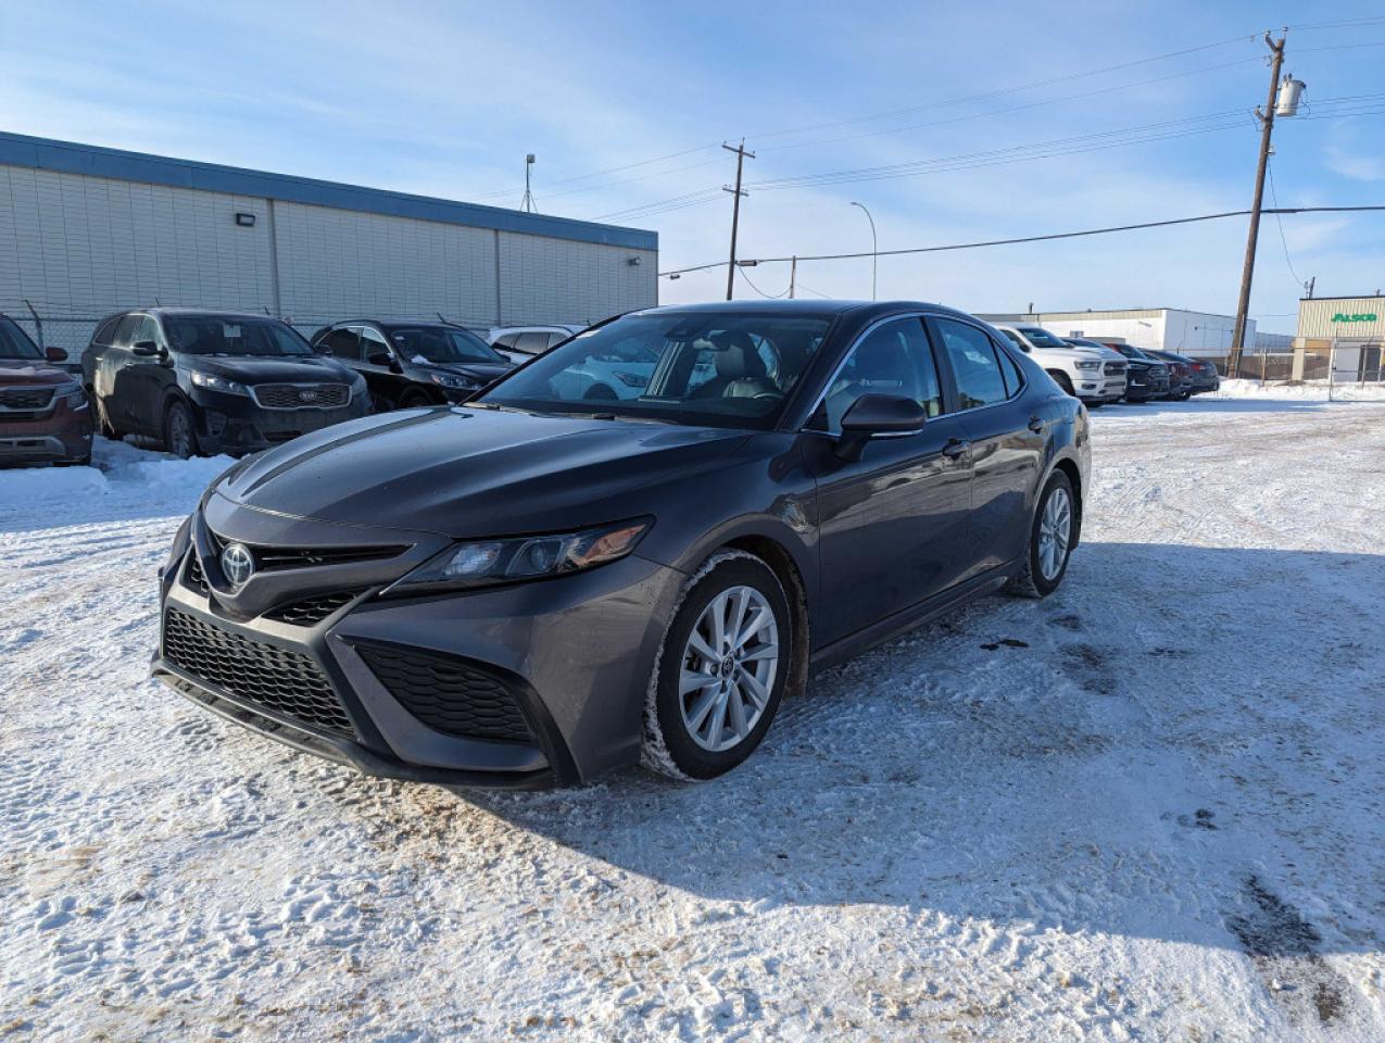
M769 429L830 320L773 314L633 314L578 334L479 404Z

